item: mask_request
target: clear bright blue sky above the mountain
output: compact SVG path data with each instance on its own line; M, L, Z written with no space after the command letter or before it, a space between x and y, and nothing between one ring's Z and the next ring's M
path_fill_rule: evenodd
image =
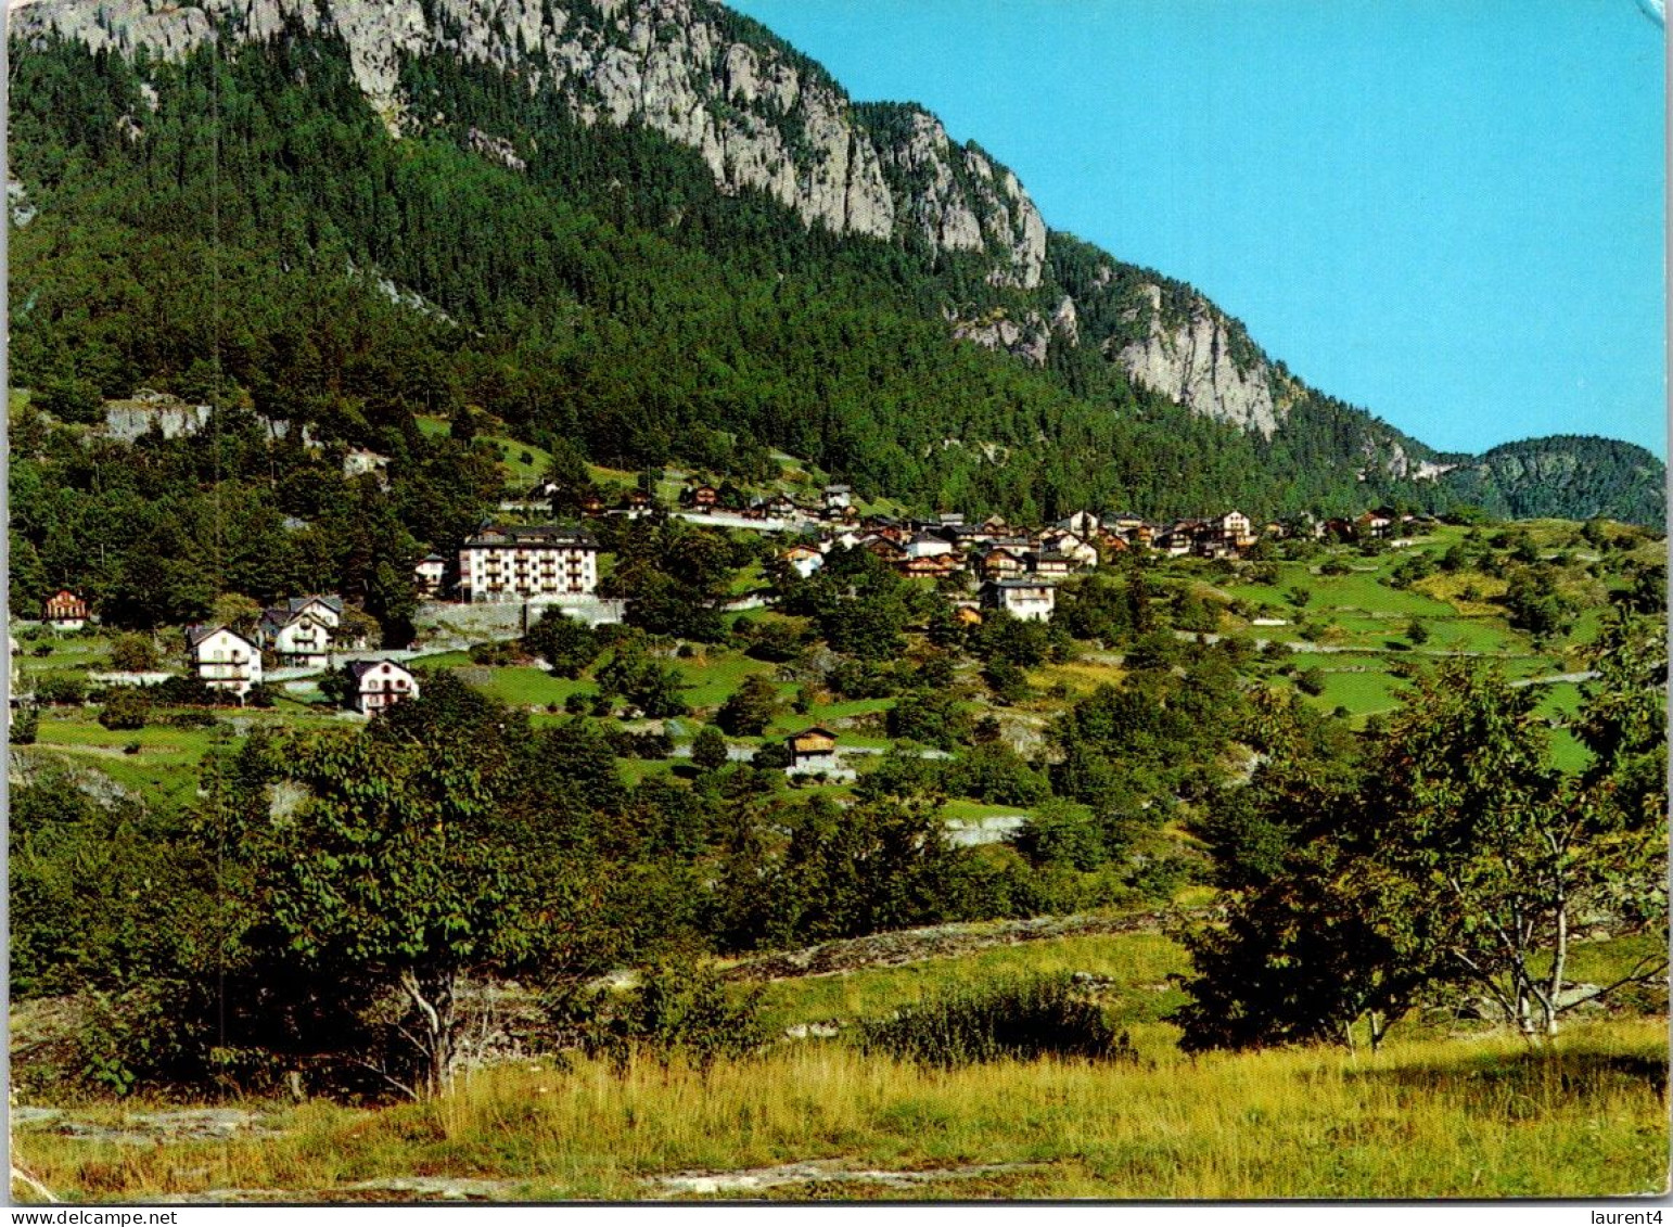
M1052 229L1444 450L1666 457L1663 30L1635 0L736 0Z

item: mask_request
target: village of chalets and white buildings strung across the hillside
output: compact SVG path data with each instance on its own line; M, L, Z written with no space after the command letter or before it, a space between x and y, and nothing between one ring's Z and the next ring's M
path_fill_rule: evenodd
M345 475L373 475L386 469L386 457L353 450L343 462ZM562 497L550 479L535 482L517 497L500 502L502 512L549 509ZM775 494L753 501L723 501L723 489L689 482L673 507L661 506L634 489L616 506L597 494L579 501L579 524L525 524L483 521L458 544L457 554L425 554L413 566L415 594L437 604L520 604L520 628L527 628L530 606L569 609L589 624L621 621L622 601L599 601L599 541L586 521L599 517L639 519L657 514L683 517L716 529L770 532L793 537L778 551L788 571L801 578L818 572L833 549L863 549L903 579L935 581L965 624L980 624L985 613L1004 611L1021 621L1051 621L1057 586L1069 576L1094 571L1101 562L1139 551L1159 557L1238 559L1260 542L1385 541L1432 527L1429 516L1402 514L1379 507L1358 517L1298 516L1255 526L1240 511L1218 516L1156 522L1131 512L1094 514L1077 511L1046 526L1012 524L989 516L977 524L960 512L934 519L862 514L853 489L826 484L818 501L796 501ZM40 621L59 631L74 631L97 614L70 589L60 589L42 608ZM243 703L264 685L298 681L333 671L340 681L331 693L361 715L420 695L420 678L402 663L400 649L378 649L378 624L336 594L303 594L264 608L254 626L201 623L187 626L182 666L204 690ZM12 646L12 706L28 701L20 693L17 655ZM107 686L154 686L174 676L164 670L110 670L94 681Z

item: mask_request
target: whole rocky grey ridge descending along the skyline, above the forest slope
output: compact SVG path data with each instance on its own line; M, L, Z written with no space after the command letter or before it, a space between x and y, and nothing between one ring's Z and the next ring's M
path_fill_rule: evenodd
M452 55L529 97L555 97L584 129L661 134L693 151L723 196L761 193L805 228L920 253L944 286L960 286L935 306L954 340L1054 373L1103 362L1258 450L1298 430L1328 434L1328 462L1355 465L1360 480L1434 480L1447 469L1449 457L1293 377L1193 288L1049 231L1009 169L954 142L925 109L852 102L815 62L706 0L35 0L12 18L25 40L57 32L94 52L174 60L221 30L246 42L338 37L360 92L402 139L463 122L410 79L412 64ZM146 117L124 121L142 131ZM540 139L535 126L477 121L460 142L527 177Z

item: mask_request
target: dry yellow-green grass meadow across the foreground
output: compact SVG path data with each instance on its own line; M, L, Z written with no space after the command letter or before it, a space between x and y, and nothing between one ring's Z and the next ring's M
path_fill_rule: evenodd
M823 1160L917 1172L731 1197L1601 1197L1666 1183L1666 1029L1302 1048L1139 1065L925 1071L840 1041L706 1075L654 1061L477 1073L423 1105L278 1110L274 1137L132 1147L20 1130L13 1162L72 1200L356 1180L504 1180L504 1199L642 1199L654 1177ZM724 1195L724 1194L723 1194Z

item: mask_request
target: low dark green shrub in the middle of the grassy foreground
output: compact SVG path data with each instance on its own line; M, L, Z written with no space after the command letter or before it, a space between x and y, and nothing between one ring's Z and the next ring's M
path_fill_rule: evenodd
M1069 974L955 988L862 1023L858 1034L867 1053L944 1070L1041 1056L1136 1060L1126 1033L1116 1034Z

